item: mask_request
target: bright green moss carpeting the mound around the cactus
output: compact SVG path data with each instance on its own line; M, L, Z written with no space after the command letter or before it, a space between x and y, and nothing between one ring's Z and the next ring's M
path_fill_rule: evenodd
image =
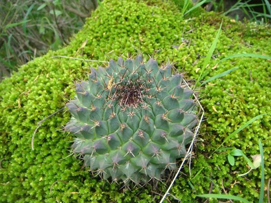
M176 62L177 69L197 78L221 17L204 13L183 19L178 9L172 1L105 0L70 45L36 58L0 84L0 203L151 203L161 198L149 187L123 192L121 185L100 181L86 168L82 169L82 163L69 156L73 135L60 130L69 121L69 113L59 112L42 123L35 136L35 150L31 150L31 138L37 122L73 98L73 81L84 79L89 66L102 64L57 55L104 61L121 54L136 55L140 50L160 63ZM210 66L232 54L270 55L269 28L228 18L223 23ZM224 193L224 187L228 194L257 201L259 169L246 178L237 177L248 170L241 158L233 167L228 164L225 152L209 158L234 129L260 113L271 112L270 61L232 59L219 64L209 76L237 66L238 70L216 79L200 93L207 120L200 129L192 174L185 166L186 175L180 175L171 190L183 203L204 202L196 194L208 193L211 182L213 193ZM270 135L271 116L266 115L225 144L250 156L259 153L257 143L261 139L266 183L271 174ZM165 189L159 184L155 191L162 194Z

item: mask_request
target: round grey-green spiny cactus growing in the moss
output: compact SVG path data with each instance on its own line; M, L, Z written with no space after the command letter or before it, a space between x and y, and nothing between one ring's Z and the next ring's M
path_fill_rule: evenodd
M76 84L65 129L76 136L72 149L84 166L125 185L161 180L167 169L176 169L197 118L193 91L171 69L152 58L144 63L141 55L119 57Z

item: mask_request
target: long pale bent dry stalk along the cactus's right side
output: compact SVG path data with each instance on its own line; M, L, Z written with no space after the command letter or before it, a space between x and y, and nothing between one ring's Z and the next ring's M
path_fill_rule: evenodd
M191 89L190 86L188 85L188 83L187 83L185 80L184 80L184 82L185 82L185 84L188 86L188 88ZM176 175L174 176L174 179L172 180L172 182L171 182L169 188L167 189L166 193L164 194L163 198L161 199L161 201L160 201L159 203L163 203L163 201L165 200L165 198L166 198L166 196L168 195L168 193L169 193L171 187L173 186L173 184L174 184L176 178L178 177L179 172L180 172L180 170L182 169L182 167L183 167L185 161L186 161L187 158L190 156L190 153L191 153L191 151L192 151L192 148L193 148L193 145L194 145L194 141L195 141L197 132L198 132L198 130L199 130L201 121L203 120L204 109L203 109L203 107L201 106L200 102L198 101L198 99L197 99L197 97L196 97L196 95L195 95L194 93L193 93L193 96L194 96L196 102L198 103L200 109L202 110L202 115L201 115L201 118L200 118L200 120L199 120L199 123L198 123L197 127L195 128L193 140L192 140L192 142L191 142L191 144L190 144L190 146L189 146L189 148L188 148L188 150L187 150L187 152L186 152L186 155L185 155L185 157L184 157L184 159L183 159L183 161L182 161L182 163L181 163L181 166L179 167L179 169L178 169Z

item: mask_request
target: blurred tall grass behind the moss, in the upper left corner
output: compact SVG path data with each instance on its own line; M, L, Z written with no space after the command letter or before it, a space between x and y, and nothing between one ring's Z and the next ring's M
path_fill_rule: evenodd
M0 80L68 43L97 0L0 0Z

